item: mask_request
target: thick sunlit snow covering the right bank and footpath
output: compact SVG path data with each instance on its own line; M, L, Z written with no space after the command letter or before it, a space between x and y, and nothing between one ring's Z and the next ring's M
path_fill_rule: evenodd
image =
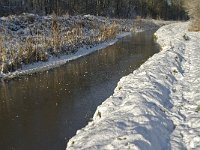
M67 149L200 149L200 33L161 27L162 51L123 77Z

